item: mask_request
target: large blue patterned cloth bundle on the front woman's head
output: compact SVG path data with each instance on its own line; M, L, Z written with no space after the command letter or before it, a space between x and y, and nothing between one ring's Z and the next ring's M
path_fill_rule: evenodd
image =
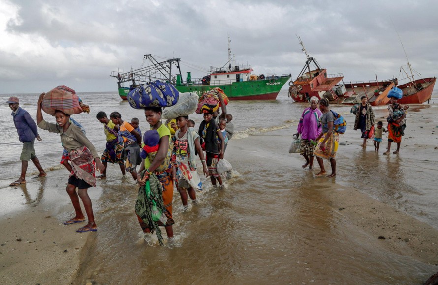
M169 83L148 82L132 89L128 96L129 105L135 109L146 107L169 107L178 102L178 90Z

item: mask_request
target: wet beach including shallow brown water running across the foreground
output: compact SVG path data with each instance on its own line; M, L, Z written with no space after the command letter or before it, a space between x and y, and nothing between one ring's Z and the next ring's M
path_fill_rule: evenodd
M228 189L213 190L206 181L197 193L199 205L188 211L174 192L174 249L149 246L138 237L133 209L138 189L130 177L120 178L117 166L110 165L108 178L89 191L95 233L79 234L81 224L62 224L73 213L66 170L29 177L17 187L0 180L0 279L8 284L421 284L438 271L438 106L411 106L401 152L389 156L383 155L386 134L378 153L370 141L362 149L349 108L331 108L341 110L348 122L340 136L336 178L315 177L316 161L314 171L303 170L304 159L287 153L301 113L276 117L281 122L270 127L238 131L225 153L237 171L226 181ZM234 117L245 115L233 111ZM375 115L385 121L387 110L377 107ZM60 154L61 147L57 150ZM328 161L325 166L329 171Z

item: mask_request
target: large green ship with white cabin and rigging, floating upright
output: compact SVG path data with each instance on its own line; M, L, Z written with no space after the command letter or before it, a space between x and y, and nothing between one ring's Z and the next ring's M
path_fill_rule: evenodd
M276 74L253 74L251 66L231 65L228 59L228 68L213 68L210 73L199 79L192 79L191 72L187 72L186 80L180 69L180 58L166 59L158 62L152 55L145 55L144 61L149 65L129 72L120 73L113 71L111 77L117 79L119 96L126 100L129 89L139 84L161 80L175 85L178 91L194 92L199 96L207 93L214 87L221 88L230 100L275 100L280 89L290 79L288 75ZM143 65L143 64L142 64ZM179 73L172 74L172 66L175 66ZM129 83L129 87L123 86Z

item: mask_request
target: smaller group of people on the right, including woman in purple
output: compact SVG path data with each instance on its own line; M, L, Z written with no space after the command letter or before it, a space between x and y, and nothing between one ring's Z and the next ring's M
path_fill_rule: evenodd
M361 131L362 147L366 147L367 139L374 136L375 151L378 151L382 141L382 133L388 132L388 147L383 154L388 155L390 153L392 142L397 143L397 149L393 153L399 153L402 136L406 128L406 111L409 106L397 103L397 98L400 95L397 91L400 92L400 89L394 88L388 93L389 116L387 118L387 129L383 128L383 122L381 121L377 123L375 128L374 111L371 105L367 103L367 97L363 96L361 103L352 108L352 113L355 114L354 130L359 129ZM397 115L395 115L396 113ZM323 159L330 161L332 169L332 173L327 177L336 176L335 157L338 150L339 134L334 129L334 121L335 117L330 112L329 101L326 98L319 100L313 96L310 98L310 107L304 109L298 123L297 135L301 135L300 154L305 159L302 167L309 167L312 170L314 157L316 156L320 167L320 171L316 176L326 174Z

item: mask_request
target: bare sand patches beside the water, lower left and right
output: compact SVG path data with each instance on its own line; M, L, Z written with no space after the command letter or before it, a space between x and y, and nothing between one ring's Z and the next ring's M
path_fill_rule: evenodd
M419 112L411 107L408 116L407 135L402 142L400 156L414 157L418 161L438 159L438 122L436 110L430 106ZM376 120L383 120L386 111L376 110ZM345 114L349 124L352 116ZM423 127L423 128L421 128ZM288 148L296 126L274 131L282 134L282 142ZM345 145L343 154L361 151L358 132L352 128L347 131L341 142ZM244 149L250 138L235 140L236 149ZM241 147L239 147L241 146ZM369 142L369 148L371 143ZM380 154L386 148L386 140L380 146ZM282 153L284 149L279 150ZM373 147L374 149L374 147ZM395 150L395 146L393 149ZM231 151L232 152L232 151ZM292 155L291 167L301 167L301 157ZM391 156L394 156L391 154ZM230 158L230 161L232 159ZM329 165L326 162L329 170ZM404 166L401 166L404 167ZM315 166L315 169L318 169ZM349 171L338 160L338 174ZM50 171L48 177L31 181L26 185L8 187L9 181L2 181L0 206L0 279L8 284L71 284L75 283L80 268L81 256L85 255L87 239L95 233L76 233L81 224L64 226L73 212L65 193L66 171ZM320 178L315 178L320 179ZM322 178L326 179L326 178ZM321 180L321 195L328 201L332 211L348 225L351 231L359 232L363 238L378 243L387 251L409 256L426 264L438 263L437 225L420 221L394 204L375 199L356 189L352 185L334 183L331 179ZM102 188L93 191L94 212L98 208L98 197ZM98 222L98 217L96 218ZM98 233L97 233L98 234ZM438 267L437 267L438 270ZM436 270L436 271L437 271ZM435 272L431 272L431 275Z

